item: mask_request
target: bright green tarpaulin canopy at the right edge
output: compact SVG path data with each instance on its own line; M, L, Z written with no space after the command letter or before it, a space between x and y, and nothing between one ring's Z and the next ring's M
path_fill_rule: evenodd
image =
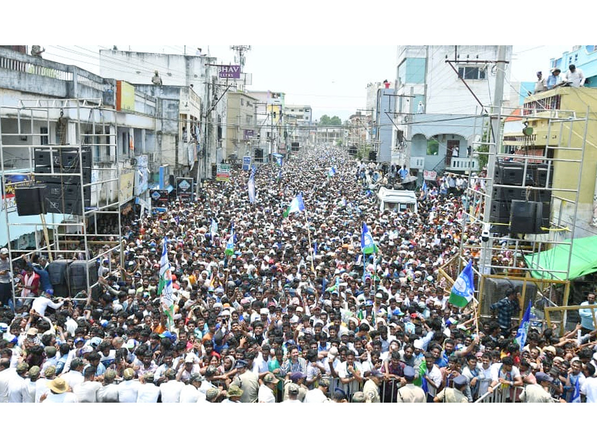
M564 240L570 243L571 240ZM549 250L544 250L530 256L525 256L527 266L534 269L546 271L566 271L568 259L570 258L570 275L566 278L564 272L554 272L553 277L549 272L531 271L534 278L560 278L562 280L574 280L583 275L597 271L597 236L586 238L574 238L572 245L572 257L570 257L568 244L558 244Z

